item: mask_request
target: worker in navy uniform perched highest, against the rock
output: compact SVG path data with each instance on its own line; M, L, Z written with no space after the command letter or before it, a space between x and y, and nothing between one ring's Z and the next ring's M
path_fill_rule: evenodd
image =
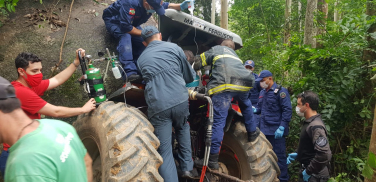
M144 51L141 27L152 13L164 15L165 9L188 9L188 2L181 4L163 2L163 0L117 0L103 10L103 20L107 31L118 39L119 60L129 79L139 77L137 59ZM132 76L131 76L132 75Z

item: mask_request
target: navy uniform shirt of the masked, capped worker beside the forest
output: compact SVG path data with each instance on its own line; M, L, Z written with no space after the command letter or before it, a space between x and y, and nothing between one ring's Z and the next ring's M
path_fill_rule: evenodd
M269 90L261 90L256 114L261 113L259 128L265 135L274 135L278 127L283 126L283 135L286 136L292 115L290 95L284 87L278 93L275 93L276 89L277 84L274 83Z

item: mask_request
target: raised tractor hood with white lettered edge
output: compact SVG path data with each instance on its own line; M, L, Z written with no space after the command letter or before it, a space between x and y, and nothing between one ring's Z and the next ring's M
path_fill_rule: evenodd
M221 44L224 39L235 42L235 49L243 47L239 35L201 20L190 14L174 9L166 9L165 16L159 16L159 31L162 39L178 44L182 49L202 53ZM195 38L196 37L196 38ZM197 45L195 43L197 42ZM197 51L198 47L198 51Z

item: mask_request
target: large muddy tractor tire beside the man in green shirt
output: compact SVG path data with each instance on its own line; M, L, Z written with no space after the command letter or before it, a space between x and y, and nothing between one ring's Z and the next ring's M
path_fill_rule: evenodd
M159 140L137 109L105 102L80 115L73 126L93 159L94 181L163 181Z

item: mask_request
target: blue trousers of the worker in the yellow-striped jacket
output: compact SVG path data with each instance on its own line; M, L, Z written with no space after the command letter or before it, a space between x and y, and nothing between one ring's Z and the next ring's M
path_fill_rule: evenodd
M223 92L212 96L213 101L213 135L210 148L211 154L218 154L223 140L223 129L226 125L228 110L231 107L232 98L239 102L240 110L245 121L247 132L256 131L256 123L252 121L253 110L248 92Z

